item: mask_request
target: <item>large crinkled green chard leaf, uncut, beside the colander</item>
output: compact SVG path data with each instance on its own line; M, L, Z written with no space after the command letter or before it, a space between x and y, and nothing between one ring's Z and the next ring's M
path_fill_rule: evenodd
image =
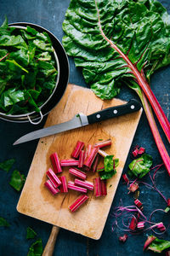
M101 99L116 96L123 83L140 95L127 59L148 80L156 69L170 64L169 20L156 0L71 0L62 42Z

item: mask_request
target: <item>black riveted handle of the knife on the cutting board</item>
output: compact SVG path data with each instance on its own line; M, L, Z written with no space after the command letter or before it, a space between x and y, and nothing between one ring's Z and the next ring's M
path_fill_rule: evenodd
M88 124L94 124L96 122L111 119L125 113L133 113L141 108L140 102L132 99L126 104L122 104L116 107L105 108L99 112L88 115Z

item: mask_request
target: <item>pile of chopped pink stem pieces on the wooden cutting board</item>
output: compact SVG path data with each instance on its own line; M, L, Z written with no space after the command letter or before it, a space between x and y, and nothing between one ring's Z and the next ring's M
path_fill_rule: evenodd
M68 193L69 189L82 193L69 206L71 212L76 212L85 201L88 201L88 190L94 190L95 197L107 195L105 180L101 180L100 177L94 177L94 182L90 182L87 180L87 174L90 171L97 171L100 155L103 157L107 155L100 148L109 145L111 145L111 139L95 143L94 146L88 145L87 148L85 148L83 142L78 141L71 153L71 159L59 160L56 152L50 155L54 171L51 168L48 169L48 172L46 172L48 180L44 183L49 191L53 195ZM63 166L70 167L69 173L72 177L75 177L74 181L67 182L65 176L58 177L63 172Z

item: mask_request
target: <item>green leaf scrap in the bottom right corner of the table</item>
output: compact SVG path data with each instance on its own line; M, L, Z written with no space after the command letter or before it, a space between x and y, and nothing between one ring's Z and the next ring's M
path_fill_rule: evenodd
M164 251L169 247L170 247L170 241L156 238L154 241L150 243L150 246L148 247L148 249L150 249L155 253L161 253L162 251Z

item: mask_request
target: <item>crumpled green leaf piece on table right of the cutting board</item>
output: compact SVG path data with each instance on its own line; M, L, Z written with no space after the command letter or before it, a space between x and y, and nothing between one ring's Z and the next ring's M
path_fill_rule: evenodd
M150 154L143 154L138 159L133 160L129 164L129 174L135 175L136 177L144 177L145 174L150 172L150 167L152 166L152 157Z

